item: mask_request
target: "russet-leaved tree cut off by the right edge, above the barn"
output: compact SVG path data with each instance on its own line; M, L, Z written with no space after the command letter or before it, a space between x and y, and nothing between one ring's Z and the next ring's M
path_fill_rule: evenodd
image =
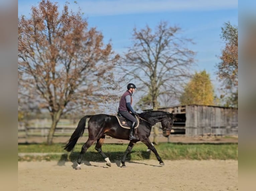
M218 76L223 82L226 106L238 106L238 28L230 22L224 24L221 38L226 42L218 64Z

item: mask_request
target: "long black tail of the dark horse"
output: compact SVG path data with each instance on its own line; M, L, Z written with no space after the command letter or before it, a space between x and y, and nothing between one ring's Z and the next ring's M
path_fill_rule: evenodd
M83 135L83 133L85 131L86 119L91 116L92 115L86 115L80 119L76 130L74 131L74 133L71 135L71 137L69 139L69 143L66 144L66 146L64 147L64 149L66 151L68 151L68 152L72 151L72 149L74 148L74 146L77 143L77 140L79 139L79 137L81 137Z

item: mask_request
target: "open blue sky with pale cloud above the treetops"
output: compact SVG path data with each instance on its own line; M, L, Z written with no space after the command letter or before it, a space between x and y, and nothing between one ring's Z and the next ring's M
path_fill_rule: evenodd
M19 0L18 16L29 17L30 8L38 1ZM62 9L67 0L56 1ZM54 0L52 0L54 2ZM217 93L216 64L220 62L221 49L225 44L220 38L221 27L230 21L238 26L237 0L77 0L70 2L69 8L77 11L78 7L88 18L89 27L97 27L107 43L112 40L113 49L122 54L130 46L134 27L149 25L154 28L160 21L167 21L171 26L181 27L182 35L196 43L189 48L197 55L195 71L206 70L211 74Z

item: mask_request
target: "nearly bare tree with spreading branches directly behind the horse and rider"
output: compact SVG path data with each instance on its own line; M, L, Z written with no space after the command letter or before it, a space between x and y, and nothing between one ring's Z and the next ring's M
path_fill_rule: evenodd
M160 22L155 31L149 26L134 28L133 45L120 63L127 76L139 81L140 90L149 93L153 110L158 109L160 95L178 94L180 84L190 75L195 53L186 48L191 40L182 38L180 31L167 22Z

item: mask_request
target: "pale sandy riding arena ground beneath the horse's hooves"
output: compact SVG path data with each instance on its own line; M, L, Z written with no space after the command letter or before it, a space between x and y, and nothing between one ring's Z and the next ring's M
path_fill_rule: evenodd
M18 162L18 190L155 190L155 191L234 191L238 190L238 161L157 160L84 162L75 170L73 162Z

